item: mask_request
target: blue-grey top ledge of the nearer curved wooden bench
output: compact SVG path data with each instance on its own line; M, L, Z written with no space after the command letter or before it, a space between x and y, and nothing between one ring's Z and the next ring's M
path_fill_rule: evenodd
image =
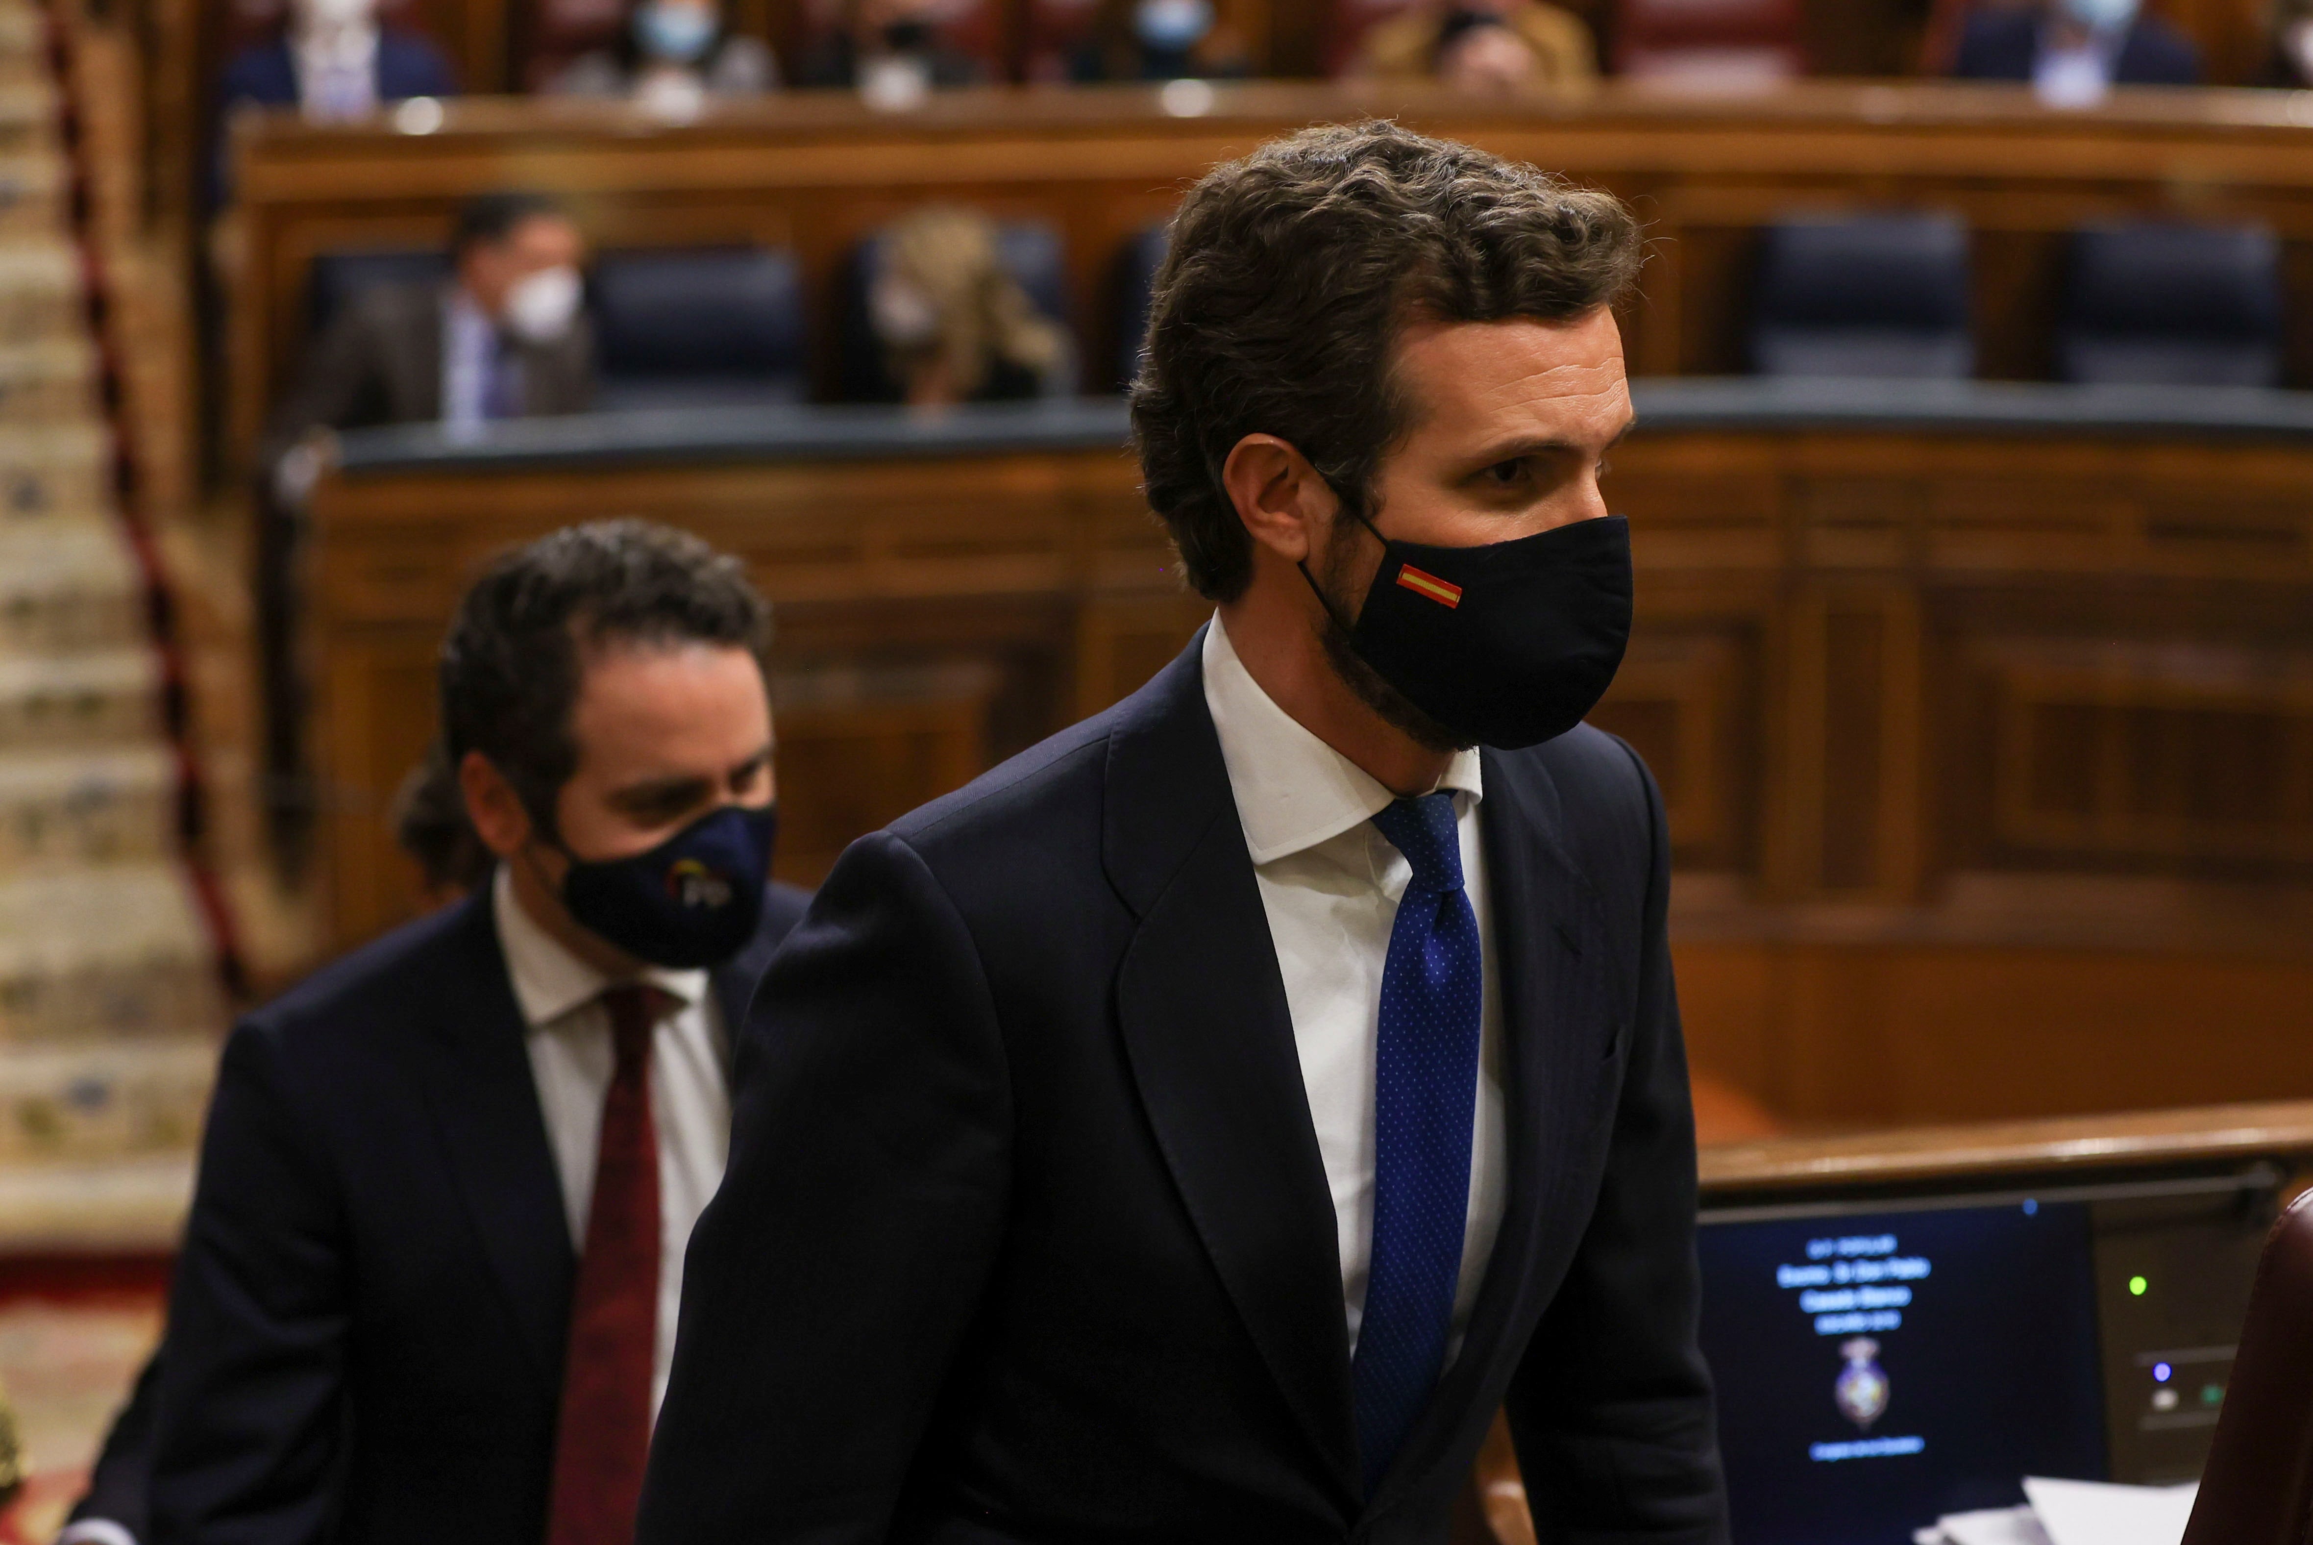
M1640 433L1899 430L1917 435L2313 442L2313 391L2049 386L2031 382L1638 379ZM349 474L493 472L588 463L844 460L1099 451L1126 442L1119 398L904 407L708 407L520 419L453 435L433 423L340 439Z

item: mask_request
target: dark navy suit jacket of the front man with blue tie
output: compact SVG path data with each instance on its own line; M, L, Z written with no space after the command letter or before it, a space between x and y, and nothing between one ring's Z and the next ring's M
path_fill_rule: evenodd
M1721 1540L1663 810L1485 754L1508 1203L1362 1494L1335 1210L1198 645L856 842L756 997L641 1545Z

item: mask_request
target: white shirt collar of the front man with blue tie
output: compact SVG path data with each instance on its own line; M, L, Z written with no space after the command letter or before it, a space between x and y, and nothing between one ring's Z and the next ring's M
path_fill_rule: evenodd
M1244 847L1272 863L1372 821L1397 796L1381 779L1309 733L1261 689L1237 659L1219 613L1205 629L1205 708L1221 735L1228 791L1237 800ZM1478 752L1457 752L1441 789L1485 796Z

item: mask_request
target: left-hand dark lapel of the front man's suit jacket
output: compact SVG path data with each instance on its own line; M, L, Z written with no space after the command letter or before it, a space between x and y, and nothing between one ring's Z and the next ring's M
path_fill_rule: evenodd
M1332 1193L1205 712L1203 634L1110 735L1106 863L1140 927L1117 1020L1182 1203L1293 1413L1358 1494Z

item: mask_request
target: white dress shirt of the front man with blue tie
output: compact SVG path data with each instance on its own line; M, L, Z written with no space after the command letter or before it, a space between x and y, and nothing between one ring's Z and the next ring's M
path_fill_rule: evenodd
M1221 618L1205 634L1205 708L1221 735L1221 761L1237 798L1237 821L1254 858L1261 909L1286 983L1293 1043L1300 1048L1309 1119L1316 1124L1325 1184L1332 1189L1342 1251L1342 1304L1348 1344L1365 1316L1374 1256L1374 1055L1381 1045L1381 967L1390 953L1397 897L1413 867L1372 823L1397 796L1348 756L1311 735L1228 643ZM1446 1355L1462 1348L1471 1304L1494 1254L1508 1187L1501 1101L1501 985L1494 918L1485 893L1478 752L1462 752L1439 779L1453 789L1462 837L1462 888L1478 914L1485 1008L1478 1043L1478 1112L1471 1122L1469 1224L1455 1286Z

